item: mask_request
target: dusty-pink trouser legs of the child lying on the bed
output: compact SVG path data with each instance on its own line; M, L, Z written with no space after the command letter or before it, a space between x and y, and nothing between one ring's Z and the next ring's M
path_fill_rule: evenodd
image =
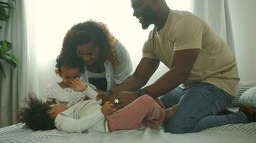
M106 117L111 132L140 129L142 125L157 129L165 117L164 110L152 97L143 95L126 107Z

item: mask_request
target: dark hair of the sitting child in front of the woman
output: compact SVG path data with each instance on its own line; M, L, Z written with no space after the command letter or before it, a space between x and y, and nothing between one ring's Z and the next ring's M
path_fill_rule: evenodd
M63 66L68 67L69 69L78 69L81 73L85 71L83 59L76 56L76 54L65 54L62 52L57 56L56 63L56 74L61 73L61 67Z

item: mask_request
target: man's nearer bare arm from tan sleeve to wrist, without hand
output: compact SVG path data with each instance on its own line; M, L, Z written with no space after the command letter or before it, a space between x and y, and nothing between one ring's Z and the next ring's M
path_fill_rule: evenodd
M151 97L160 97L185 82L191 74L200 49L186 49L175 51L173 54L173 68L165 73L154 84L145 87Z

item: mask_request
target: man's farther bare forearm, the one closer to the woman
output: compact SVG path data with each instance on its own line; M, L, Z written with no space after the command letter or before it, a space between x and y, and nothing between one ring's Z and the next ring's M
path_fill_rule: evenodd
M119 84L117 87L114 87L114 89L111 89L111 92L115 94L122 91L134 92L137 89L140 89L147 84L148 80L152 74L154 74L159 64L160 61L156 59L142 58L134 73L122 84Z

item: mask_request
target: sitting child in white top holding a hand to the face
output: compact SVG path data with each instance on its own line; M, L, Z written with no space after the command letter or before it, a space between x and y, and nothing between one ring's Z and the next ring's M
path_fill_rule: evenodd
M95 87L92 84L84 84L79 79L81 73L84 72L84 64L81 59L75 55L72 56L72 54L64 55L60 53L56 62L55 72L62 78L62 81L49 84L46 87L42 94L42 99L46 101L47 104L60 103L70 107L82 101L86 95L86 98L96 98L98 93L93 89L90 88L90 91L85 90L88 85L94 89ZM88 97L88 95L92 97Z

